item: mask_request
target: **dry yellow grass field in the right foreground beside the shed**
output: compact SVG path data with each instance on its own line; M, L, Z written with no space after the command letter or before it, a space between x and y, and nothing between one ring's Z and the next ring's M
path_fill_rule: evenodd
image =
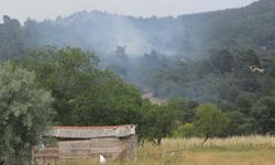
M275 138L242 136L212 139L166 139L161 146L145 144L136 156L108 165L275 165ZM61 165L64 162L59 163ZM98 164L97 160L69 161L68 165Z

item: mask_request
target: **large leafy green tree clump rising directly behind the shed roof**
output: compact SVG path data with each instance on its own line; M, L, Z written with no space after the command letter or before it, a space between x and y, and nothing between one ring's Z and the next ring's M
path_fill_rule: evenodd
M139 123L142 98L109 70L95 54L80 48L44 47L19 62L34 70L37 84L53 91L54 122L66 125Z

